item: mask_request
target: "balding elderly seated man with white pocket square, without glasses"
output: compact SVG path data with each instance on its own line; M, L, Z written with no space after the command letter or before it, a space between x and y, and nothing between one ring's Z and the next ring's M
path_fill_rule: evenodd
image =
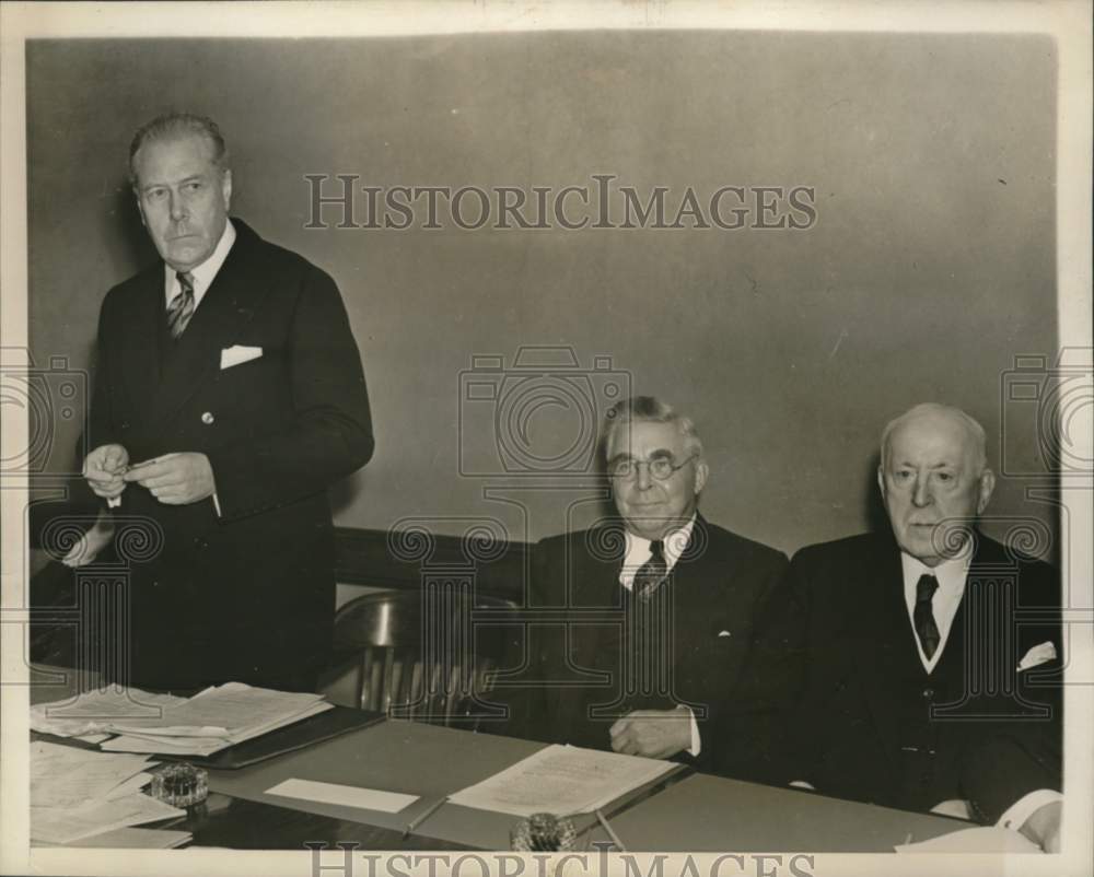
M784 779L999 820L1052 849L1058 575L974 528L996 479L964 411L920 405L889 423L877 483L892 531L812 546L791 563L782 630L800 627L775 639L804 692Z

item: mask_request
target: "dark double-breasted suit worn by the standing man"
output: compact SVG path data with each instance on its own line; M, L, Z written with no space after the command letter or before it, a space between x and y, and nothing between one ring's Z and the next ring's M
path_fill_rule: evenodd
M334 615L327 488L372 455L360 354L329 276L233 220L236 241L177 342L163 265L109 291L100 316L89 448L130 463L201 452L212 499L164 505L139 484L119 519L153 545L131 564L131 679L299 685L326 659ZM221 351L261 355L221 367ZM158 550L156 550L158 549Z

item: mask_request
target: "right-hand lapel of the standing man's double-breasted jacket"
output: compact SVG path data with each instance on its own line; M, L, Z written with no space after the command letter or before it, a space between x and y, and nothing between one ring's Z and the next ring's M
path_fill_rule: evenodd
M266 294L267 279L256 257L259 238L240 220L233 220L233 224L236 239L228 258L183 337L166 356L147 420L153 433L163 428L205 381L220 371L220 351L232 346Z

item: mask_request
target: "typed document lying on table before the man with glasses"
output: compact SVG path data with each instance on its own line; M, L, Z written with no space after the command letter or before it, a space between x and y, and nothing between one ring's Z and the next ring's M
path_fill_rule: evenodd
M618 752L548 746L449 800L514 816L592 812L677 767Z

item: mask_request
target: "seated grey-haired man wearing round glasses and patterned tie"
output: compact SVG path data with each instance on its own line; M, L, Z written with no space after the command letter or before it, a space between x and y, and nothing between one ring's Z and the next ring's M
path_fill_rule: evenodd
M536 547L532 686L509 733L705 768L787 559L698 513L709 469L690 419L640 396L602 438L618 516ZM742 762L747 721L728 744Z

